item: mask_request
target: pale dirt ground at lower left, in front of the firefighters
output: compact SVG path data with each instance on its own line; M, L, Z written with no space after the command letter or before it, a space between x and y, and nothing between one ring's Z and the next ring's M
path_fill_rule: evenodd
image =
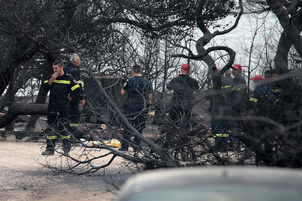
M36 160L62 158L58 153L42 156L43 144L0 141L0 200L115 200L118 188L133 175L120 158L105 169L104 176L103 171L92 176L54 175Z

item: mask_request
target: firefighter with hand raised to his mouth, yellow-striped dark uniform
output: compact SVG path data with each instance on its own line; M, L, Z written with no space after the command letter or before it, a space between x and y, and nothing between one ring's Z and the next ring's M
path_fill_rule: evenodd
M76 95L81 95L82 91L76 79L63 70L61 61L53 62L54 73L50 75L48 80L45 80L42 87L44 91L50 91L47 124L46 129L46 151L42 155L53 155L57 137L63 140L64 155L68 155L70 145L70 135L68 133L68 115L69 115L69 100L75 98L69 96L71 90Z

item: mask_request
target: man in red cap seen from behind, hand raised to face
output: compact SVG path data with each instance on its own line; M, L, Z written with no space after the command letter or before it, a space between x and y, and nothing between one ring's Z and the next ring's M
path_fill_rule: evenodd
M168 131L166 132L166 142L164 147L169 148L172 142L172 133L175 127L188 129L191 119L191 110L194 105L193 93L199 89L197 80L189 76L190 66L182 64L181 74L177 74L171 82L167 84L168 90L173 90L171 109L169 112Z

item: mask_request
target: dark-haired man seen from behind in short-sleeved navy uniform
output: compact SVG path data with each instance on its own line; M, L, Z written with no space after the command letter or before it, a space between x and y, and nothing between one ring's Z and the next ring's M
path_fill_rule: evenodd
M142 68L140 65L135 64L132 68L133 77L124 83L121 94L128 93L127 106L125 109L125 117L129 123L140 133L143 133L143 129L146 127L146 112L150 111L151 106L151 84L150 82L141 76ZM123 141L119 151L128 151L129 144L133 146L133 150L139 149L140 138L134 137L134 143L131 142L130 137L132 131L127 127L125 122L123 123Z

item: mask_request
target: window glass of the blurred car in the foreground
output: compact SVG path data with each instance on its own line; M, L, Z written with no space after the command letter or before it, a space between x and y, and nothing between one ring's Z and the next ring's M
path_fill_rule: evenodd
M297 201L302 193L298 190L272 187L183 187L136 193L129 201Z

